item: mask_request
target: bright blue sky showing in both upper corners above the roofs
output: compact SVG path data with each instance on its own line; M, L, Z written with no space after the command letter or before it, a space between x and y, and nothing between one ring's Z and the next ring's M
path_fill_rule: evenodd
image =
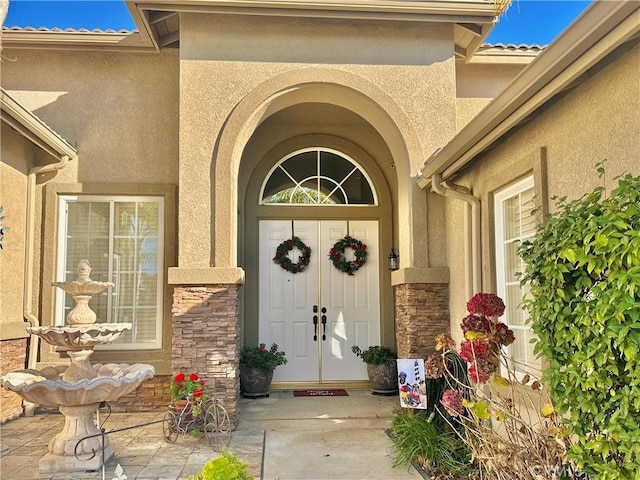
M590 4L584 0L513 0L487 38L489 43L550 43ZM133 30L120 0L9 0L5 26Z

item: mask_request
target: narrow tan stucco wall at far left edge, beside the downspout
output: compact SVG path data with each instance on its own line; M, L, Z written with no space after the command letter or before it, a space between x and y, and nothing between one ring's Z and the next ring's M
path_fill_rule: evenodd
M2 122L0 160L0 205L2 225L9 228L0 252L0 339L26 337L22 286L27 209L27 173L36 152L26 138Z

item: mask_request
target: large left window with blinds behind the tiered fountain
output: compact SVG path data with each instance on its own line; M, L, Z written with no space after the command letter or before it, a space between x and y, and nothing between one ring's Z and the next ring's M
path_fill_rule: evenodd
M160 348L164 200L161 197L60 197L58 281L77 278L78 261L91 263L91 279L114 287L89 305L97 323L131 323L106 349ZM56 324L75 301L56 292Z

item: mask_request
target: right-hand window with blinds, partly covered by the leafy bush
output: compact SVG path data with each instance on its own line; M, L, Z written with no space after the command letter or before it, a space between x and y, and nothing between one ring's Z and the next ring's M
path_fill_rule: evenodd
M507 354L518 372L542 372L540 360L533 355L531 340L534 333L527 324L528 315L522 308L522 300L528 293L517 276L525 265L518 256L518 247L533 237L536 229L533 177L527 177L495 195L496 276L498 295L504 300L502 319L516 336L507 347Z

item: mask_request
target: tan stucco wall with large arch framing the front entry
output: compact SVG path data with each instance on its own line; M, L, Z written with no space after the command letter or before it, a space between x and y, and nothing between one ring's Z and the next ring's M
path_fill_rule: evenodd
M191 232L180 241L180 266L235 265L242 151L260 121L310 100L354 111L385 141L398 178L401 261L428 266L426 236L412 236L426 229L425 194L411 176L456 128L451 26L183 15L181 32L180 178L193 188L180 193L180 229ZM234 143L225 145L224 131L234 127ZM373 136L357 140L388 167Z

